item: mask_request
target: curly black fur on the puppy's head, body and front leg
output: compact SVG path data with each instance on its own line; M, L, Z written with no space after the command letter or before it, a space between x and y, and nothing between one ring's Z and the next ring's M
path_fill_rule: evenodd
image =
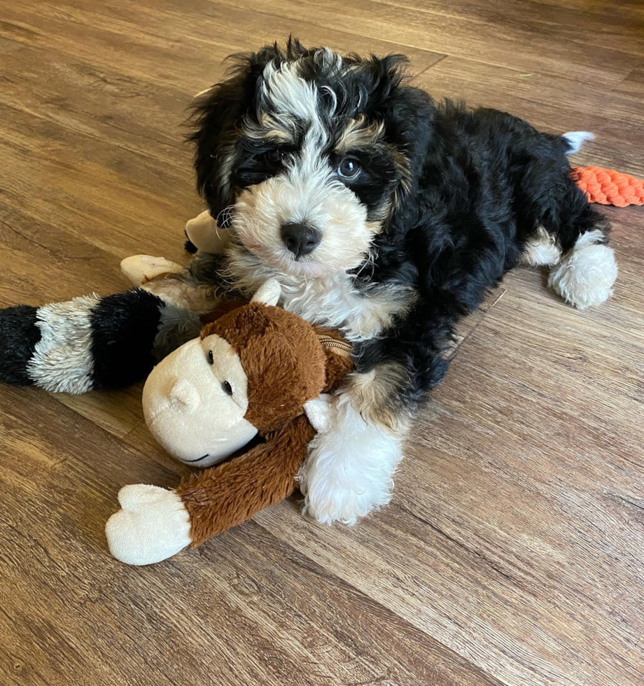
M608 232L575 184L566 139L500 111L436 104L403 78L400 55L348 55L338 68L317 48L290 39L285 50L269 45L236 59L232 76L195 105L197 188L214 217L243 188L281 171L279 157L265 155L270 143L244 137L244 125L271 113L259 87L269 62L297 60L299 76L315 83L330 164L334 141L351 118L384 125L372 150L356 151L365 174L350 187L370 216L384 206L390 212L370 260L354 273L363 290L402 283L418 299L382 335L356 346L356 359L360 371L392 360L404 365L409 383L397 395L410 403L440 382L455 323L517 265L538 227L564 253L584 232ZM298 127L305 132L307 122L295 121ZM231 150L239 154L224 179L222 163Z

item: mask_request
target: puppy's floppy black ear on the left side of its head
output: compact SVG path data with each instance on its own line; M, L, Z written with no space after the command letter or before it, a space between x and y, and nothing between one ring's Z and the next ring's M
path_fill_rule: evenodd
M215 219L235 202L230 176L239 120L253 107L265 66L272 59L281 58L276 44L252 54L231 55L235 64L228 70L227 78L198 94L191 106L189 123L194 131L188 140L195 144L197 191Z

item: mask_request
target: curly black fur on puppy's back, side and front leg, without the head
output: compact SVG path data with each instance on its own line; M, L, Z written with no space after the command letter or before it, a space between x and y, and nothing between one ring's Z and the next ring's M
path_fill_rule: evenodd
M408 126L410 110L423 117L415 89L400 89L399 98L414 105L405 116L394 108L394 132ZM388 359L404 363L413 398L442 380L448 366L442 352L455 323L517 265L537 226L563 252L584 232L608 232L570 173L565 139L491 109L435 106L428 98L424 107L432 125L414 141L412 155L422 160L414 187L377 237L374 269L358 276L402 278L419 291L412 312L362 344L358 358L359 370Z

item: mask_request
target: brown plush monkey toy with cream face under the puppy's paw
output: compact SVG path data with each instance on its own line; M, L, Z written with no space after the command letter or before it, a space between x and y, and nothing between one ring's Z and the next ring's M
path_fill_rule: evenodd
M279 295L279 283L267 281L250 303L207 324L148 377L146 423L184 463L212 465L256 436L261 441L174 491L121 489L122 509L106 524L117 559L167 559L295 490L307 445L325 427L321 393L334 391L352 363L339 333L274 307Z

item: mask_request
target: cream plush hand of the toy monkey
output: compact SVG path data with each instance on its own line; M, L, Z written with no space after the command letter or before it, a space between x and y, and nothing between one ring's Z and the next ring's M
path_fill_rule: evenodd
M118 502L123 509L107 520L105 535L121 562L153 564L190 545L190 514L174 491L132 484L120 489Z

